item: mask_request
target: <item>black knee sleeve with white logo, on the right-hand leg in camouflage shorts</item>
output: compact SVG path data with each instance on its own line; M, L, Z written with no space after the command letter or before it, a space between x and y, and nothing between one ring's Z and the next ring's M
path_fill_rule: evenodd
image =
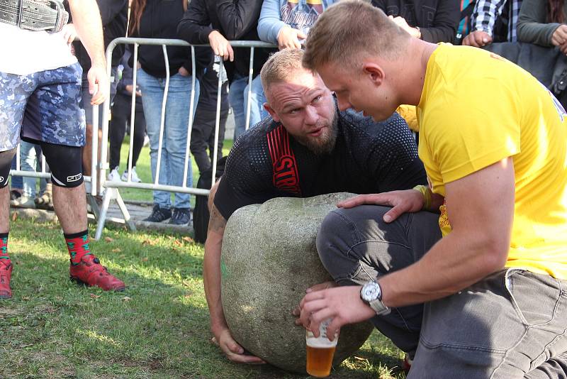
M78 187L83 182L81 148L40 143L51 169L51 181L59 187Z

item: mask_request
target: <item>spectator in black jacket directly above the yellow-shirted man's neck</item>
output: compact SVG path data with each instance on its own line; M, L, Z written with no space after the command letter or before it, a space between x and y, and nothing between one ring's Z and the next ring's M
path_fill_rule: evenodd
M453 42L461 10L456 0L372 0L410 35L426 42Z

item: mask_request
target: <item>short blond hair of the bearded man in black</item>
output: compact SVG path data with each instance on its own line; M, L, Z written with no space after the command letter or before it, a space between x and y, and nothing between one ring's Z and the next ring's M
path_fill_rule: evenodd
M304 70L301 65L303 50L287 48L272 54L260 71L264 93L268 92L271 84L284 82L297 70Z

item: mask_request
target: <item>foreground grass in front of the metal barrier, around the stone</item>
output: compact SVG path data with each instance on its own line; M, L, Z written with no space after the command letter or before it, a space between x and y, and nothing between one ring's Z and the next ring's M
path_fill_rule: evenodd
M203 246L106 229L91 245L126 292L79 287L57 224L11 223L12 300L0 301L0 378L306 378L230 363L210 343ZM374 332L334 378L404 378Z

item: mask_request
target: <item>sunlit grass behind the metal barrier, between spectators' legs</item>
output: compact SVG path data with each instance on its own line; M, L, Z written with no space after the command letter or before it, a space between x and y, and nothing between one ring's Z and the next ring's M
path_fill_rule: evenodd
M120 149L120 175L128 168L128 149L130 148L130 136L125 136L122 148ZM225 140L223 143L223 155L228 155L232 148L232 140ZM193 186L197 185L199 170L195 160L191 158L193 166ZM152 171L150 170L150 147L144 146L137 160L136 173L142 182L152 182ZM137 202L152 202L152 191L148 189L120 188L120 195L125 200ZM191 206L195 204L195 198L191 197Z

